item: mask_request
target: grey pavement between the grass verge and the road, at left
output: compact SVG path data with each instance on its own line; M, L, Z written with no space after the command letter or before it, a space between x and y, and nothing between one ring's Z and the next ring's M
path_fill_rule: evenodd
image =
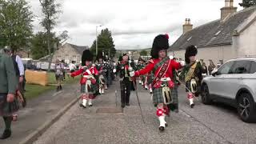
M12 122L12 136L6 140L0 140L1 144L18 144L28 135L51 120L63 107L76 98L75 90L78 84L63 86L63 90L46 92L38 98L28 101L26 108L18 111L18 122ZM0 118L0 130L4 130L3 120Z

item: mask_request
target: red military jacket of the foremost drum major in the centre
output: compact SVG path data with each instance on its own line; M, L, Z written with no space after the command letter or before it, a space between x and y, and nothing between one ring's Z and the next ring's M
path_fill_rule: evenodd
M139 75L144 75L149 73L154 69L154 66L158 64L158 62L161 62L161 59L154 58L150 59L149 64L142 70L138 70L135 72L135 76L138 77ZM158 76L162 66L159 66L157 70L154 71L154 78ZM169 59L169 66L166 70L166 73L162 75L162 78L173 78L173 70L178 70L182 68L182 65L180 62L176 62L174 59Z

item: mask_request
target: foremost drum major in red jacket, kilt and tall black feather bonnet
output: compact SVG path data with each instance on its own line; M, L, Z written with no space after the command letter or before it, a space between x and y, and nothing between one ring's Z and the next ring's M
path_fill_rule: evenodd
M159 130L165 130L167 126L165 117L169 115L169 105L178 103L177 85L174 83L173 70L178 70L185 65L185 62L176 62L173 58L167 56L169 48L169 36L160 34L154 38L149 64L142 70L130 72L130 76L138 77L148 74L150 71L154 73L152 82L153 103L157 106L157 116L160 122Z

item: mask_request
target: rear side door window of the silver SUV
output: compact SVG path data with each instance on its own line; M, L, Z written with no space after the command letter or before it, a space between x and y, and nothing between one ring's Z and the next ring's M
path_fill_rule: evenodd
M231 74L249 74L250 73L250 61L237 61L234 63L234 67L231 70Z

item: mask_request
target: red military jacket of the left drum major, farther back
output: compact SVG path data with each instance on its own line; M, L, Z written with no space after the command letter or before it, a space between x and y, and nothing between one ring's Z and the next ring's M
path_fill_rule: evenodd
M98 75L98 70L96 69L95 66L91 66L90 69L85 70L86 66L81 66L81 68L79 70L74 71L73 73L71 73L71 77L75 77L78 76L80 74L82 75ZM85 78L82 77L80 79L80 83L83 84L85 81Z

